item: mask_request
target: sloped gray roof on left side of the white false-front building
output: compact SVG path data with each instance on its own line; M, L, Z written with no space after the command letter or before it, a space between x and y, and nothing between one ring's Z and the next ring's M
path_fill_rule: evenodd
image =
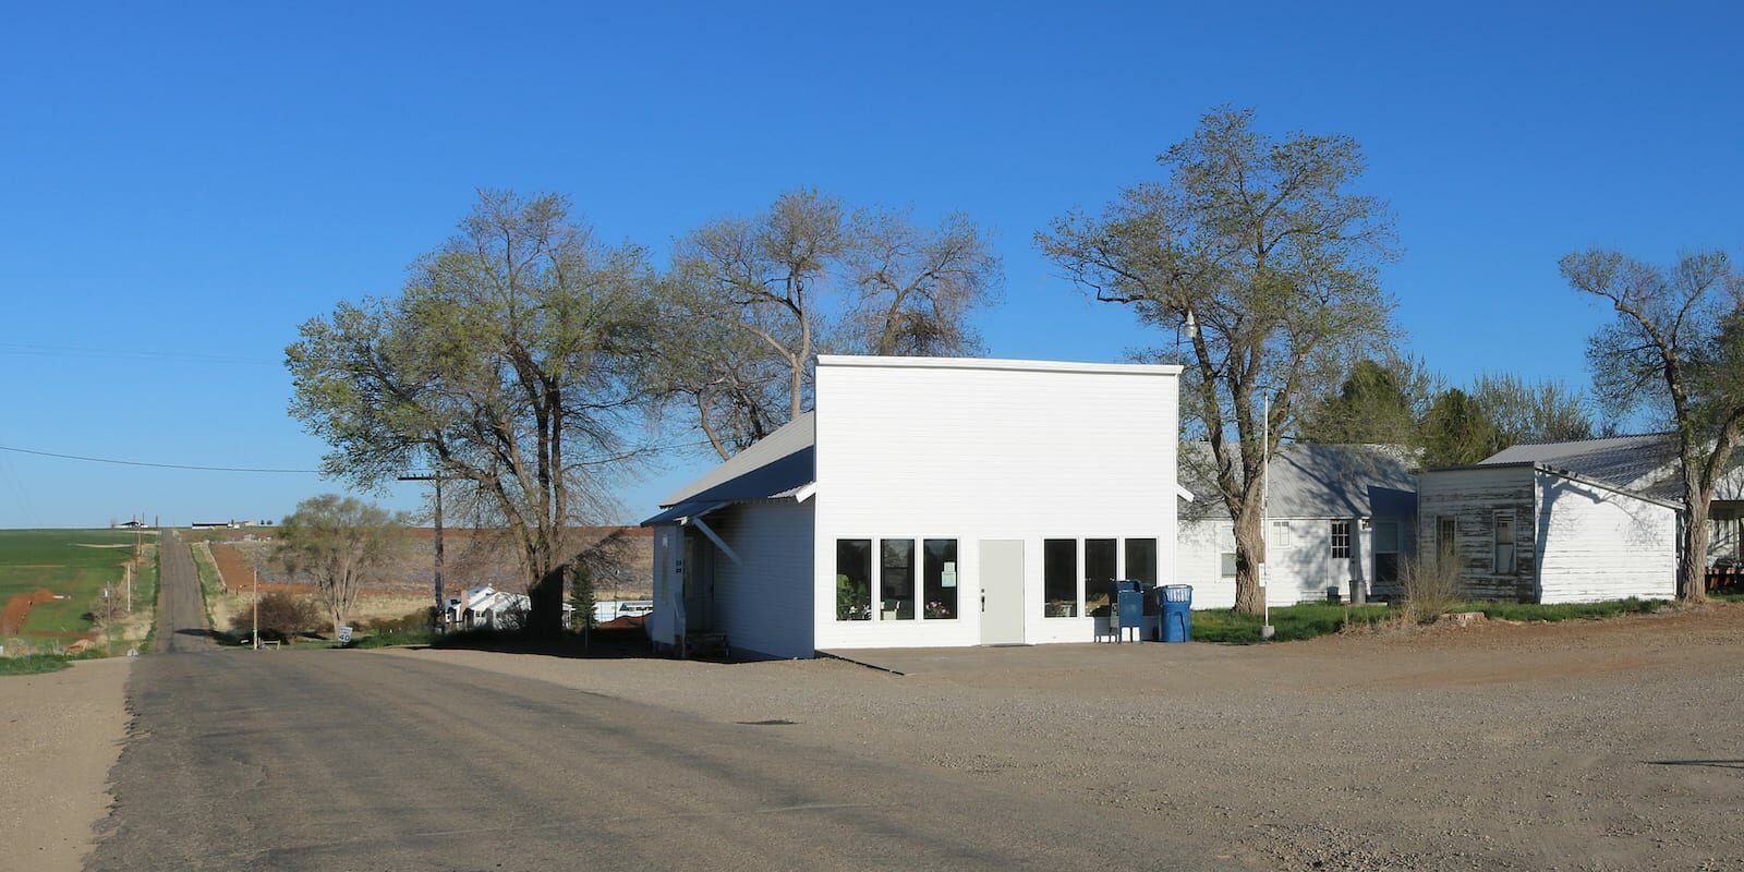
M661 501L666 511L642 525L705 514L729 502L797 495L818 478L816 441L816 419L806 412L678 488Z

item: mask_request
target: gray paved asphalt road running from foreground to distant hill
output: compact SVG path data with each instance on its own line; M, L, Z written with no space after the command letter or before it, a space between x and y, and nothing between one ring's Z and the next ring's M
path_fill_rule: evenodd
M180 623L134 666L89 869L1210 869L1156 818L835 755L780 726L366 651L218 651L187 633L204 610L183 607L185 546L167 553Z

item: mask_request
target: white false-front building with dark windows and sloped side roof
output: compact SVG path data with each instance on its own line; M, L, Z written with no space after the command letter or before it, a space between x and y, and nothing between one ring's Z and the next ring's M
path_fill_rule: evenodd
M1090 642L1175 565L1179 366L821 356L816 403L663 502L656 645Z

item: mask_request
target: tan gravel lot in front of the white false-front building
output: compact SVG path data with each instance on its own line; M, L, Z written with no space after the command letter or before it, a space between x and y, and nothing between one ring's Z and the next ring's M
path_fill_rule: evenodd
M1252 869L1744 869L1744 605L752 664L396 651L1155 816ZM633 760L626 760L633 766ZM1087 834L1093 839L1095 834Z

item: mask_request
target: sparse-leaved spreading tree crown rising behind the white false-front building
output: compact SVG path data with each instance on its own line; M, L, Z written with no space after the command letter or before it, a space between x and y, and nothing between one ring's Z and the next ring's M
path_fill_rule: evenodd
M804 412L820 351L973 352L970 314L998 288L999 260L963 215L923 228L905 211L788 192L677 242L652 382L726 459Z

